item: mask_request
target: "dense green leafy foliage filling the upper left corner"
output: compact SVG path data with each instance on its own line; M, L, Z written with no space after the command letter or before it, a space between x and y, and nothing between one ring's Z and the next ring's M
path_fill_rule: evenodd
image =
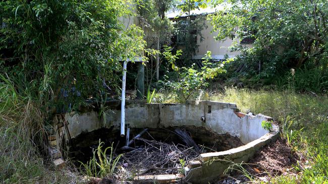
M44 101L90 98L104 83L119 88L120 60L140 55L145 42L124 0L0 2L0 71ZM33 88L33 89L32 89ZM64 92L63 92L64 91ZM68 91L68 95L65 95Z

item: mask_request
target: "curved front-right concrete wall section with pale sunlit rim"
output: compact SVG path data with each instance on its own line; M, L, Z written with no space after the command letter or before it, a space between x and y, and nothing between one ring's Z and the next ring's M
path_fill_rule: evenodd
M266 121L270 121L270 117L261 116L261 118L267 118ZM197 159L189 162L185 167L186 180L191 183L208 183L213 179L220 178L229 166L247 162L254 156L256 150L277 140L278 137L279 127L272 125L270 132L246 145L227 151L200 154Z

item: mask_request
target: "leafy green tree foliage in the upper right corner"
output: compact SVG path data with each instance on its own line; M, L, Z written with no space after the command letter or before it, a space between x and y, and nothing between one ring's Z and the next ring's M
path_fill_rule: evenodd
M252 48L241 44L232 47L242 52L248 70L252 66L258 71L253 75L272 77L309 63L326 68L327 1L218 0L214 3L214 6L224 5L228 6L211 17L213 31L218 33L216 39L255 39Z

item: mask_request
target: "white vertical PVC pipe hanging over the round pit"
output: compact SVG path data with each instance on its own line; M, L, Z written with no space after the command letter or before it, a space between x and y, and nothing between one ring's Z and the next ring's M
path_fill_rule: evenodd
M123 63L122 98L121 98L121 137L125 136L125 83L127 78L127 61Z

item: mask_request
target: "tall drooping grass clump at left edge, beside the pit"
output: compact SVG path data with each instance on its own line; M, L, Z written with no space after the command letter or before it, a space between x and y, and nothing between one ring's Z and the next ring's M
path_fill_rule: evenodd
M20 95L8 77L0 77L0 182L66 183L67 176L49 170L40 155L45 132L38 104L28 93Z

